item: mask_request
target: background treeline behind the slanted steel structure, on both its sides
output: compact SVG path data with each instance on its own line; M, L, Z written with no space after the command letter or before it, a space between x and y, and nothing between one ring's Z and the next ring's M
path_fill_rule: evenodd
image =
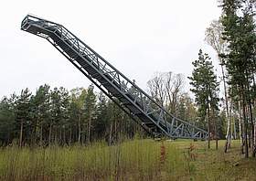
M156 73L147 82L149 94L167 112L207 129L184 86L184 76L172 72ZM221 138L224 127L219 127ZM35 93L25 89L0 101L1 145L71 145L96 140L112 144L136 135L149 136L113 101L94 91L92 85L68 91L63 87L50 89L45 84Z

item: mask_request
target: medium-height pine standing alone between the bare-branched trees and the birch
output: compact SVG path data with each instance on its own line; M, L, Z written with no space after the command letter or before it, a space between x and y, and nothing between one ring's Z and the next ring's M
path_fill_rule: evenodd
M217 76L214 73L214 67L208 54L203 54L200 49L198 53L198 59L192 62L194 69L192 77L188 77L190 85L192 85L192 91L195 94L196 102L198 106L198 113L201 120L206 120L208 116L208 148L211 133L214 133L216 147L218 148L218 133L217 133L217 112L219 104L219 82ZM212 129L214 127L214 129Z

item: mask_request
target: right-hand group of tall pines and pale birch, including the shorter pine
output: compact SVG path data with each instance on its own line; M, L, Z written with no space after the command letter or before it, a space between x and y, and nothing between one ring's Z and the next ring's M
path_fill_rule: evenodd
M240 137L241 153L249 157L251 150L252 156L255 157L256 2L255 0L219 0L219 7L222 9L222 14L219 20L213 21L207 28L206 41L218 54L221 68L219 77L224 98L219 100L215 96L215 92L219 91L216 75L202 76L209 75L203 68L213 69L208 55L202 51L199 52L199 58L193 62L195 69L190 78L193 86L191 91L196 94L199 108L206 111L204 115L208 117L208 131L211 130L210 124L215 124L211 117L215 116L214 112L218 112L218 101L221 102L225 111L225 114L222 112L222 116L225 115L227 122L227 143L224 151L228 152L231 139ZM202 80L209 80L208 83L204 81L204 89L198 84ZM204 103L205 101L207 103ZM217 134L215 133L215 137L218 137Z

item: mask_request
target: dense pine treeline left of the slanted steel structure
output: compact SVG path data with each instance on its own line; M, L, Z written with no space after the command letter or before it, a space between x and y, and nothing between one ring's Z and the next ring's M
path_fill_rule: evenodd
M50 90L40 86L0 102L0 144L49 145L90 144L120 137L132 138L144 132L127 114L102 93L88 89Z

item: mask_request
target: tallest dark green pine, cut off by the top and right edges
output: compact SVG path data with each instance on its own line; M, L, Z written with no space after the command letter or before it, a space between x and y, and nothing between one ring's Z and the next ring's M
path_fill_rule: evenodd
M239 102L243 117L243 139L245 157L249 157L249 147L254 144L254 122L252 106L255 101L255 2L252 0L222 0L223 39L228 41L228 53L223 54L231 85L230 96ZM249 138L249 139L248 139Z

